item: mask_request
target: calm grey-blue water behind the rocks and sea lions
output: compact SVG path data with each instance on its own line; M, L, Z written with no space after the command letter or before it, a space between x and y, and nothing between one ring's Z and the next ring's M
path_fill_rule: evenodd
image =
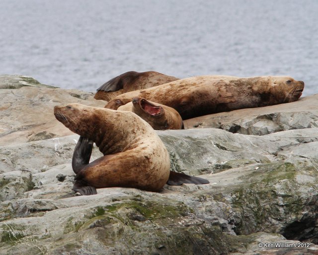
M318 93L318 0L0 0L0 74L95 91L123 72L289 75Z

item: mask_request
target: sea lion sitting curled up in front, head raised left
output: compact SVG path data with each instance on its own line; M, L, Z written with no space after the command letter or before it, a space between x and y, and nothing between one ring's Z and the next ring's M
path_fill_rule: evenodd
M96 194L96 188L133 187L158 192L165 183L209 183L181 173L170 176L169 154L156 131L132 112L80 104L56 106L54 115L80 135L72 167L73 190ZM89 163L93 142L104 156Z

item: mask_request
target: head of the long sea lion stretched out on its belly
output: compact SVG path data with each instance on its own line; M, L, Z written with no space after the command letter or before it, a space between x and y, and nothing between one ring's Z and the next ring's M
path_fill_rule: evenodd
M279 103L290 103L297 101L304 90L305 83L296 81L289 76L272 76L270 92L275 95Z

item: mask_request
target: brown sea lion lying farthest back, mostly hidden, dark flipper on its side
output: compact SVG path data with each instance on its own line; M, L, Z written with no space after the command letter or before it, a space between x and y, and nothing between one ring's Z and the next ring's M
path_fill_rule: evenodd
M129 71L105 82L97 89L94 99L109 101L129 91L152 88L176 80L179 80L179 78L155 71L142 73Z

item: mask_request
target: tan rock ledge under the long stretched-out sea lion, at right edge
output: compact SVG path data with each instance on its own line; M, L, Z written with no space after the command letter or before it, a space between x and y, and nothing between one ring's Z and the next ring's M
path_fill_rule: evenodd
M184 121L185 128L221 128L233 133L264 135L273 132L317 128L318 94L300 100L259 108L211 114Z

